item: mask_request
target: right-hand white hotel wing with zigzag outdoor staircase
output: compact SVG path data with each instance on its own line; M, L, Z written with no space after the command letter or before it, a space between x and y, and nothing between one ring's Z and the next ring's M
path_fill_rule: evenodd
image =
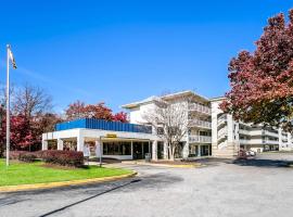
M211 99L213 155L235 155L240 149L255 152L292 150L291 133L280 128L235 122L232 115L220 110L224 99Z

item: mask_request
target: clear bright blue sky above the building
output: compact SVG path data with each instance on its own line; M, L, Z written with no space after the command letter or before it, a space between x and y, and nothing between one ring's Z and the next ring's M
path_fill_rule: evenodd
M290 8L293 0L0 0L0 84L10 43L11 82L43 88L58 113L76 100L118 112L163 92L220 97L229 60L253 51L267 18Z

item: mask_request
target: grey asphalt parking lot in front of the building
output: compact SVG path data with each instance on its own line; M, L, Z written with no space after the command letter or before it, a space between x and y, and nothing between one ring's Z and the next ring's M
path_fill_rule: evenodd
M0 216L291 216L293 154L205 161L202 168L119 165L133 179L0 195ZM204 162L204 161L203 161Z

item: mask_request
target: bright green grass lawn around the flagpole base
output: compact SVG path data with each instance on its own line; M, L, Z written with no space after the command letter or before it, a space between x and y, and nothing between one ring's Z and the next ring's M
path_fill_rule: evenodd
M5 161L0 159L0 187L17 186L28 183L47 183L54 181L68 181L78 179L90 179L130 174L131 170L119 168L100 168L89 166L88 168L54 168L44 167L42 162L20 163L11 162L9 168Z

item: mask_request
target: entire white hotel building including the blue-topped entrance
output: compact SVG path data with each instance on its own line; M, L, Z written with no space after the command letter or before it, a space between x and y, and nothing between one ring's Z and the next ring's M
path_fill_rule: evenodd
M193 91L123 105L129 112L130 124L99 119L77 119L56 125L56 130L42 135L42 149L82 151L90 146L92 155L119 159L167 157L167 144L148 126L144 114L156 106L156 101L179 103L186 113L189 129L182 138L176 157L232 157L240 149L256 152L293 150L292 136L281 129L235 122L219 107L224 98L207 99Z

